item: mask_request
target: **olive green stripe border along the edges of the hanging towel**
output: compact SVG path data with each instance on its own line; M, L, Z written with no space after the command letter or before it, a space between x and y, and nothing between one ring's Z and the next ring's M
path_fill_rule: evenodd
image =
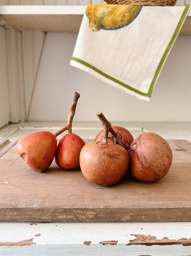
M155 82L156 82L156 80L157 80L157 77L158 77L158 75L159 75L159 72L161 71L161 68L162 68L162 66L163 66L164 60L166 59L166 57L167 57L167 55L168 55L168 53L169 53L169 50L171 49L171 47L172 47L172 45L173 45L173 42L175 41L175 39L176 39L176 37L177 37L177 35L178 35L180 29L181 29L181 26L182 26L182 24L183 24L183 21L184 21L185 18L186 18L186 15L187 15L189 9L190 9L190 4L187 4L187 5L185 6L185 9L184 9L183 13L182 13L182 16L181 16L181 18L180 18L180 21L178 22L178 25L177 25L177 27L176 27L176 29L175 29L175 32L173 33L173 36L171 37L171 40L170 40L170 42L169 42L169 44L168 44L166 50L164 51L164 54L163 54L163 56L162 56L162 58L161 58L161 61L159 62L159 65L158 65L157 70L156 70L156 72L155 72L155 74L154 74L153 80L152 80L151 85L150 85L150 87L149 87L148 93L143 93L142 91L139 91L139 90L137 90L137 89L135 89L135 88L133 88L133 87L127 85L127 84L124 84L123 82L121 82L121 81L115 79L115 78L112 77L112 76L109 76L108 74L102 72L100 69L98 69L98 68L92 66L91 64L89 64L89 63L87 63L87 62L85 62L85 61L83 61L83 60L81 60L81 59L78 59L78 58L76 58L76 57L72 57L72 60L74 60L74 61L76 61L76 62L79 62L79 63L83 64L83 65L86 66L86 67L91 68L92 70L96 71L96 72L99 73L100 75L102 75L102 76L104 76L104 77L110 79L111 81L114 81L115 83L117 83L117 84L119 84L119 85L124 86L125 88L127 88L127 89L129 89L129 90L131 90L131 91L134 91L135 93L138 93L138 94L140 94L140 95L142 95L142 96L146 96L146 97L150 98L150 97L151 97L152 90L153 90L153 87L154 87L154 84L155 84Z

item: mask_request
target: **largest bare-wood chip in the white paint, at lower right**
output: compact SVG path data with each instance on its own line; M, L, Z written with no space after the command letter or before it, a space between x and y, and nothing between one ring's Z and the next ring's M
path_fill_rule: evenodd
M182 244L183 246L191 245L191 238L180 238L180 239L169 239L164 237L162 239L157 239L154 235L133 235L137 238L129 240L129 243L126 245L173 245L173 244Z

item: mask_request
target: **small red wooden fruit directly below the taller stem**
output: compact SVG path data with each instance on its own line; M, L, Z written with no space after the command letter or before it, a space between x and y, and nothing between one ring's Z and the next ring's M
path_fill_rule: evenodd
M55 161L63 169L80 168L80 152L86 143L75 133L66 134L58 143Z

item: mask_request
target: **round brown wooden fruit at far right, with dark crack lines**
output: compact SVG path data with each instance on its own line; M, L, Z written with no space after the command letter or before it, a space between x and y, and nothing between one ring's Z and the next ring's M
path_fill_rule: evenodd
M143 133L130 145L129 172L140 181L162 179L172 164L172 150L166 140L156 133Z

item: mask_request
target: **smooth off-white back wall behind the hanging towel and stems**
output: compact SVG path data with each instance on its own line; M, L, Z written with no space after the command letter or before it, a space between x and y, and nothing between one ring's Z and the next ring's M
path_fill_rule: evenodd
M70 66L76 33L47 33L28 121L63 121L80 93L74 121L191 121L191 36L178 36L150 102L143 102Z

